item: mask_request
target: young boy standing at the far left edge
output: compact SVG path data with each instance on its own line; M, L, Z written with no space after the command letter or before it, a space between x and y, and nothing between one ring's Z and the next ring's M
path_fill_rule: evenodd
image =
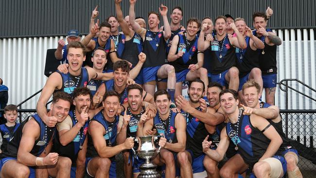
M0 133L1 133L1 150L2 152L6 147L8 142L10 142L11 136L18 128L18 123L16 123L18 117L18 107L15 105L8 105L4 107L4 118L7 120L5 124L0 125Z

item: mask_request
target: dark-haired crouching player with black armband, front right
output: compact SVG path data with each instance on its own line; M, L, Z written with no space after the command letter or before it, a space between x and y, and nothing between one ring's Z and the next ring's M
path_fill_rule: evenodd
M243 115L243 110L237 107L238 102L237 91L221 91L221 107L228 115L229 122L221 132L221 141L216 150L210 149L211 142L207 141L206 137L202 143L203 152L212 160L220 161L228 149L230 140L242 156L243 161L235 162L243 169L242 172L249 168L253 171L250 177L282 177L286 171L286 161L282 156L278 156L282 143L280 135L263 117L255 114ZM230 178L237 176L230 175Z

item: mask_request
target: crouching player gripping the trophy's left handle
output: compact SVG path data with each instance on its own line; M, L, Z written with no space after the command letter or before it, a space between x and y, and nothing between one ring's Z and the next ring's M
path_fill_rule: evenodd
M115 155L134 146L132 138L117 144L117 137L123 134L123 132L117 134L119 116L116 113L119 106L119 95L115 91L106 92L104 109L89 123L87 173L91 177L116 178Z

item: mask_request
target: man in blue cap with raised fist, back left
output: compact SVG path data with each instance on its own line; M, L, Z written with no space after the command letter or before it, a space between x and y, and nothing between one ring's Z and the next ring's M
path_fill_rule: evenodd
M67 43L71 43L72 41L80 41L79 31L78 30L70 30L67 34ZM67 44L67 45L68 45ZM68 64L67 59L67 45L63 39L58 40L58 46L55 51L55 58L61 60L62 63Z

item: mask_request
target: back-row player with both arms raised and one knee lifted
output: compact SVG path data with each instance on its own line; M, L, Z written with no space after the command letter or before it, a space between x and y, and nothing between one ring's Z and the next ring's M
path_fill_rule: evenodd
M149 29L141 28L138 23L135 23L135 3L136 0L130 0L129 22L137 34L139 34L144 42L143 52L147 56L147 60L143 65L143 83L144 89L153 95L156 88L156 80L168 78L167 88L171 95L171 100L174 102L176 89L176 73L175 68L167 64L166 56L166 41L171 36L171 29L167 18L167 7L161 4L162 10L159 8L159 13L163 18L164 31L160 32L158 24L160 16L156 12L148 14Z

